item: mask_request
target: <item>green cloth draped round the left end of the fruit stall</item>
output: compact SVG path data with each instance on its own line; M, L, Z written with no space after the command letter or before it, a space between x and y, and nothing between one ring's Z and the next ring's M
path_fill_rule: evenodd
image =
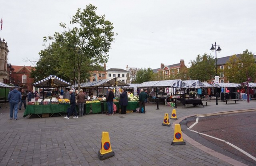
M26 117L29 114L67 112L69 107L69 104L27 105L23 117Z

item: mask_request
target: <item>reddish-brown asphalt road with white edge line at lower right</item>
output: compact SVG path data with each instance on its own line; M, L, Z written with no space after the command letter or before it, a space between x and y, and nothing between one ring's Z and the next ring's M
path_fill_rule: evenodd
M229 144L188 130L196 122L196 116L181 121L182 131L200 144L216 152L255 166L256 161L256 112L228 113L198 117L198 123L191 130L225 140L245 152L254 156L254 159L230 146Z

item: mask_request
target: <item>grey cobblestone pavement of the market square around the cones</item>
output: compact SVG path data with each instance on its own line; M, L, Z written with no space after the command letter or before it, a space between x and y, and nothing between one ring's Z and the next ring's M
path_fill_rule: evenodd
M178 104L178 120L203 113L252 109L256 101L207 103L205 108L188 109ZM0 110L0 165L10 166L72 166L72 165L173 165L173 166L230 166L245 165L192 140L183 134L186 145L172 146L173 127L163 126L164 113L171 115L173 107L147 103L146 113L89 114L78 119L64 117L23 118L9 120L8 103ZM23 111L23 112L22 112ZM102 131L109 132L111 148L115 152L105 160L97 153L101 146Z

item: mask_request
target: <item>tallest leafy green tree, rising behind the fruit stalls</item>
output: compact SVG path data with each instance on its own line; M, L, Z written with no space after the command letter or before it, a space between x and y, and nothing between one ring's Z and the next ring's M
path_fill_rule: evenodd
M52 56L56 62L51 67L70 79L75 73L78 89L81 81L89 77L89 71L100 69L99 66L108 61L108 52L114 41L113 23L105 20L105 15L97 15L96 10L92 4L84 10L78 9L70 21L72 29L66 30L66 24L60 23L63 32L44 37L45 45L52 41L46 48L52 51L44 55Z

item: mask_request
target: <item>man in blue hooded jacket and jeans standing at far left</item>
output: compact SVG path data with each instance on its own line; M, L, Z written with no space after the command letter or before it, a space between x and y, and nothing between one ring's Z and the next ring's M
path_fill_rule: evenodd
M14 119L18 118L18 104L21 101L21 93L18 91L19 87L15 88L8 94L8 101L10 103L10 120L13 118L14 109Z

